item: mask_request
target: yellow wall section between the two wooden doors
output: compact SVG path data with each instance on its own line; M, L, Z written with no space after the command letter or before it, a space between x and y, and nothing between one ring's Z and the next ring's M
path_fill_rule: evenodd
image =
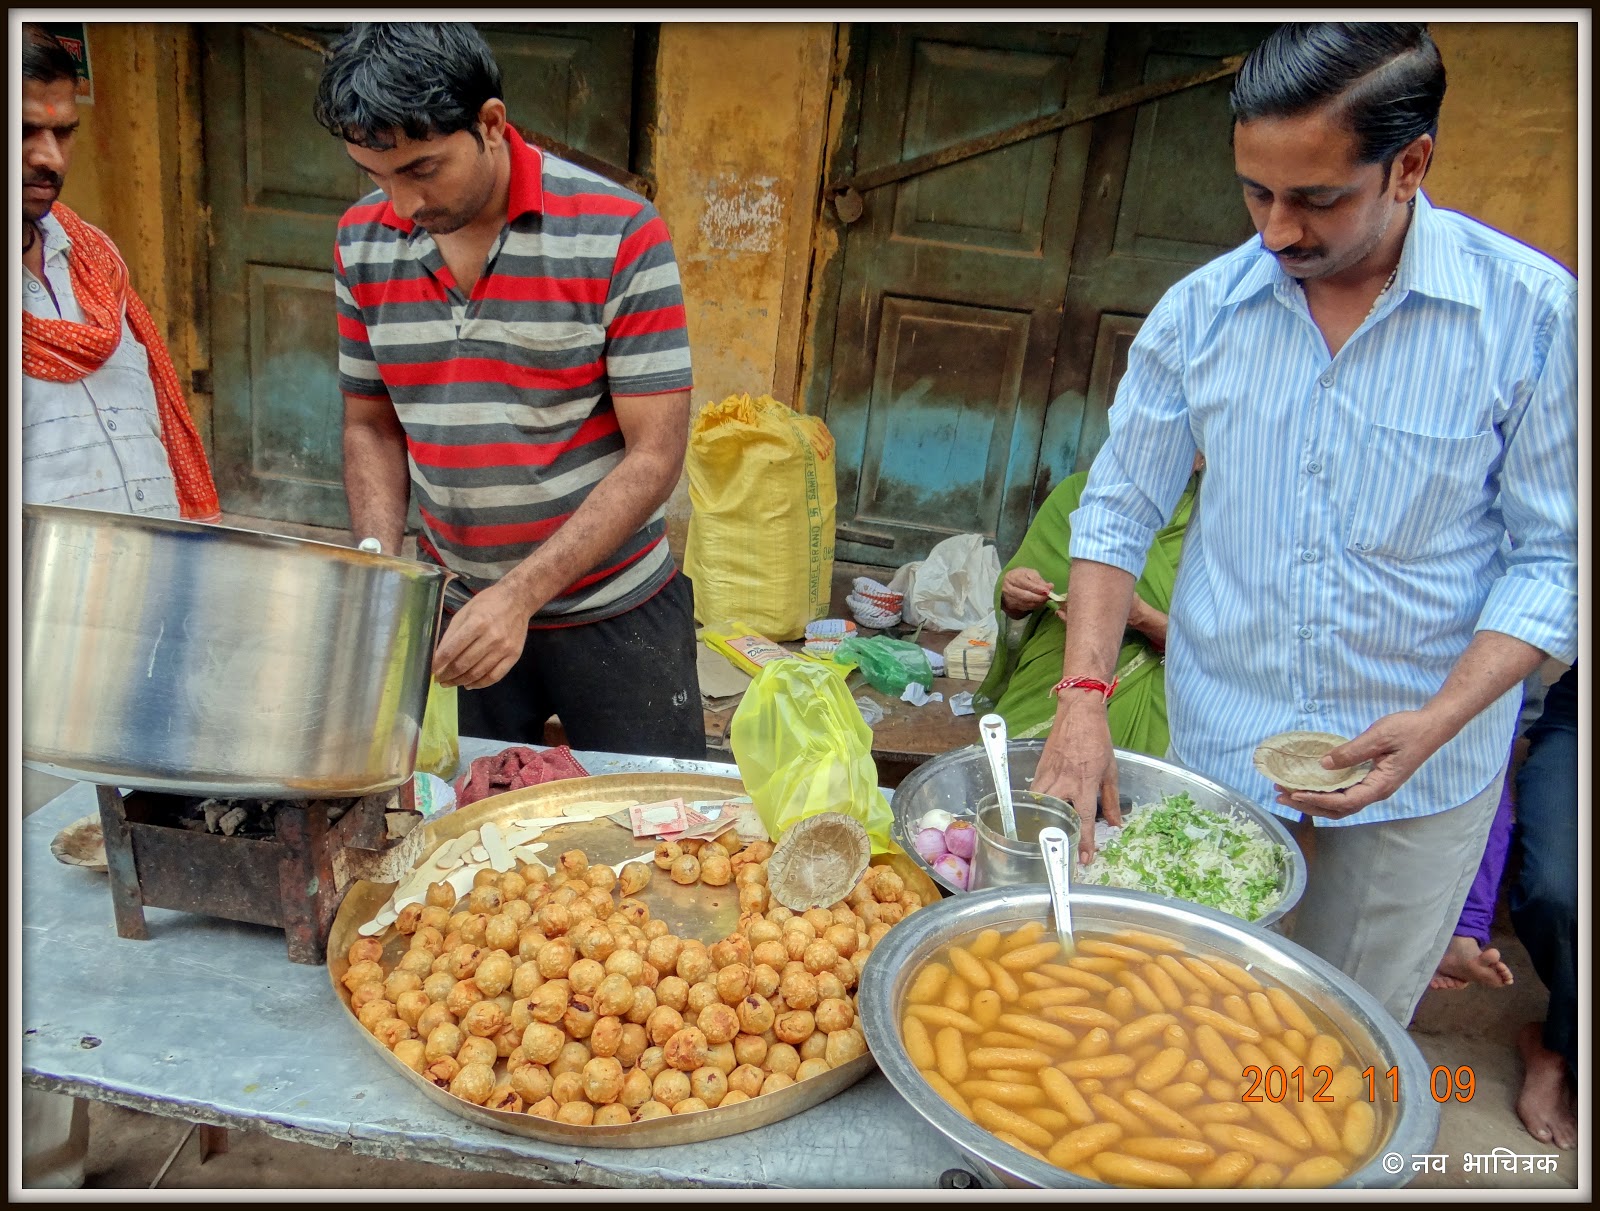
M656 206L683 275L694 405L795 402L834 26L662 24ZM667 506L682 555L688 486Z

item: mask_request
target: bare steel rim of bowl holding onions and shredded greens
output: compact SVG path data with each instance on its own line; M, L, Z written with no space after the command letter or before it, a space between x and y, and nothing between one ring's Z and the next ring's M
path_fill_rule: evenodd
M1043 752L1043 741L1011 741L1006 745L1014 785L1027 785L1034 781ZM1256 918L1256 925L1272 928L1299 904L1301 896L1306 894L1306 856L1290 830L1283 827L1283 821L1251 803L1240 792L1213 782L1194 769L1128 749L1115 749L1114 752L1117 757L1117 793L1125 813L1139 803L1160 803L1165 795L1187 793L1197 808L1224 816L1242 816L1283 846L1283 896ZM931 761L912 769L896 789L891 800L894 809L891 837L917 865L928 872L934 883L946 891L960 893L962 888L922 861L914 843L917 821L931 808L971 817L973 806L989 793L994 793L994 777L989 773L989 758L981 744L939 753Z

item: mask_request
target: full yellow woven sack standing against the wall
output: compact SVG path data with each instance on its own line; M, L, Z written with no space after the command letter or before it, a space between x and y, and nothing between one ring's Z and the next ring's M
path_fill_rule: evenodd
M827 616L834 579L834 437L771 395L706 405L690 430L694 619L738 619L782 643Z

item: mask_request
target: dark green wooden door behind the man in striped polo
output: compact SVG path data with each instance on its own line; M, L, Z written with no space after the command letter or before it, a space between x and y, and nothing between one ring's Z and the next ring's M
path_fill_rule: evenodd
M342 26L275 26L330 42ZM480 24L514 125L627 166L632 26ZM227 512L349 525L333 237L371 189L312 118L318 56L262 26L205 26L213 464ZM413 509L414 512L414 509Z

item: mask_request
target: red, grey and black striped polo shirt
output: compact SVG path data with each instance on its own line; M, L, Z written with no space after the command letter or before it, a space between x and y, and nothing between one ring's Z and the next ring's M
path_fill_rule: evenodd
M613 395L685 390L683 291L643 197L510 144L507 224L467 298L438 246L381 190L334 243L339 387L405 426L426 557L494 584L622 461ZM672 579L662 510L533 619L613 617Z

